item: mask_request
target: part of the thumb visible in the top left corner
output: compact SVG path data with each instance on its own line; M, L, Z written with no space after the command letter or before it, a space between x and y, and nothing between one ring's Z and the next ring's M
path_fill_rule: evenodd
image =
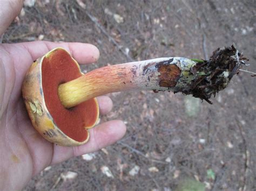
M21 12L23 0L0 1L0 36Z

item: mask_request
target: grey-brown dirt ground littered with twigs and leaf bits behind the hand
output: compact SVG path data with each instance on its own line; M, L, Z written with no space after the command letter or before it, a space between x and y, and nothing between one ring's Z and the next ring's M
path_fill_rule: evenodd
M84 72L166 56L207 59L235 43L250 59L243 69L256 72L255 12L255 0L41 0L24 6L3 43L94 44L100 59ZM113 93L101 123L122 119L125 137L46 168L24 190L256 190L255 83L240 72L213 105L168 92Z

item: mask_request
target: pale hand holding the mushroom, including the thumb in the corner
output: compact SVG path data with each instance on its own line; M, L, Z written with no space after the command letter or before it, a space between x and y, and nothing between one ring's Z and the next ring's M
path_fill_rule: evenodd
M23 1L3 1L0 6L0 35L18 15ZM30 43L0 44L0 188L20 190L45 167L115 143L125 134L122 121L110 121L90 130L90 140L78 147L62 147L42 138L32 127L21 96L26 70L33 60L55 47L63 47L78 63L89 64L99 58L90 44ZM86 54L84 54L86 52ZM109 97L97 97L100 114L112 108Z

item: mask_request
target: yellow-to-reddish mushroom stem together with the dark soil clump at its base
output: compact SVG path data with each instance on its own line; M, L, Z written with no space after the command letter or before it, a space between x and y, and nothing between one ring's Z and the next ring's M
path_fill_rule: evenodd
M125 90L169 90L192 94L211 103L208 99L226 88L239 72L242 59L242 54L232 45L218 48L208 61L169 57L106 66L60 84L58 95L65 108Z

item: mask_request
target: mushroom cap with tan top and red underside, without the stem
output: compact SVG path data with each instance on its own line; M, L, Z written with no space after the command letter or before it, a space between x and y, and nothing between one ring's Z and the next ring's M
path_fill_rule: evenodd
M35 129L49 142L78 146L89 140L88 129L98 121L99 107L91 98L66 109L59 100L58 86L82 76L78 63L63 48L55 48L32 63L22 94Z

